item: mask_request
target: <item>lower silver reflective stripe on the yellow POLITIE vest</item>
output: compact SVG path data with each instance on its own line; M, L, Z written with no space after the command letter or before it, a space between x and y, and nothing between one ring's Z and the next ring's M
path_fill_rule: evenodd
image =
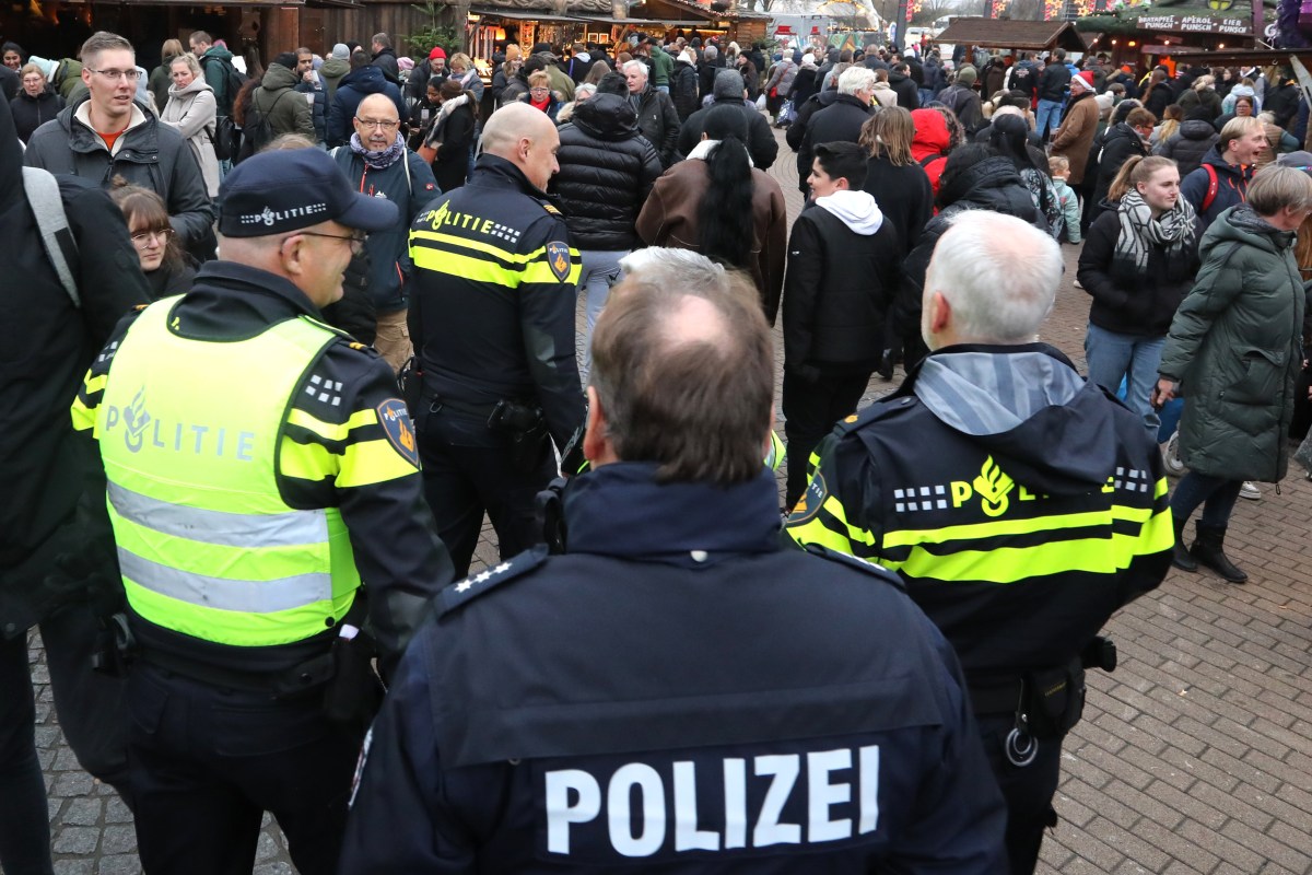
M118 565L134 584L197 607L272 614L332 598L332 575L327 572L277 580L227 580L169 568L123 547L118 548Z

